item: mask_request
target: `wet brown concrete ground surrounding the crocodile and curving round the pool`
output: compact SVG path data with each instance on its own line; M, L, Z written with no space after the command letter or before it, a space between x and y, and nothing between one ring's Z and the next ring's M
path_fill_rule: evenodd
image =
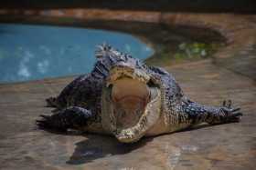
M165 19L173 14L165 15ZM45 98L58 95L74 77L0 85L1 169L255 169L256 23L254 15L176 15L178 25L216 29L228 45L208 59L162 65L185 95L219 106L241 106L241 123L201 125L126 145L108 135L66 135L37 129L50 113ZM204 21L204 22L203 22ZM242 23L242 25L241 25Z

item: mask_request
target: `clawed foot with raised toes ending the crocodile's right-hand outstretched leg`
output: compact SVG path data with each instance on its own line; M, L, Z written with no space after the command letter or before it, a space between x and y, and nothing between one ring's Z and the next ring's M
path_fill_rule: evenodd
M226 101L223 102L223 107L221 110L224 112L225 116L225 123L235 123L240 122L242 113L239 112L240 107L231 108L231 100L229 100L228 104L226 105Z

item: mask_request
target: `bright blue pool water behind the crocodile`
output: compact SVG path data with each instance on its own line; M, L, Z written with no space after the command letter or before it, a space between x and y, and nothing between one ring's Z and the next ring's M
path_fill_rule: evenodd
M121 33L45 25L0 24L0 83L91 72L95 45L108 43L143 60L154 51Z

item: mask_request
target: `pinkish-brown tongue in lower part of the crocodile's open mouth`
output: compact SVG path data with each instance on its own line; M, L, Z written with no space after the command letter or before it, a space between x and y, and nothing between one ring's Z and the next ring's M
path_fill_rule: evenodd
M126 96L115 104L114 115L122 128L136 125L144 114L144 100L137 96Z

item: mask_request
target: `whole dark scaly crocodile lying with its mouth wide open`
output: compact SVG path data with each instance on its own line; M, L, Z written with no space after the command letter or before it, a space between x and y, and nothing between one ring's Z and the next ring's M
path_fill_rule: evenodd
M120 142L134 143L143 136L173 133L204 122L240 122L240 107L232 108L230 100L220 107L197 104L165 69L147 66L111 45L97 47L91 73L49 97L48 106L59 111L40 115L38 126L77 135L114 135Z

